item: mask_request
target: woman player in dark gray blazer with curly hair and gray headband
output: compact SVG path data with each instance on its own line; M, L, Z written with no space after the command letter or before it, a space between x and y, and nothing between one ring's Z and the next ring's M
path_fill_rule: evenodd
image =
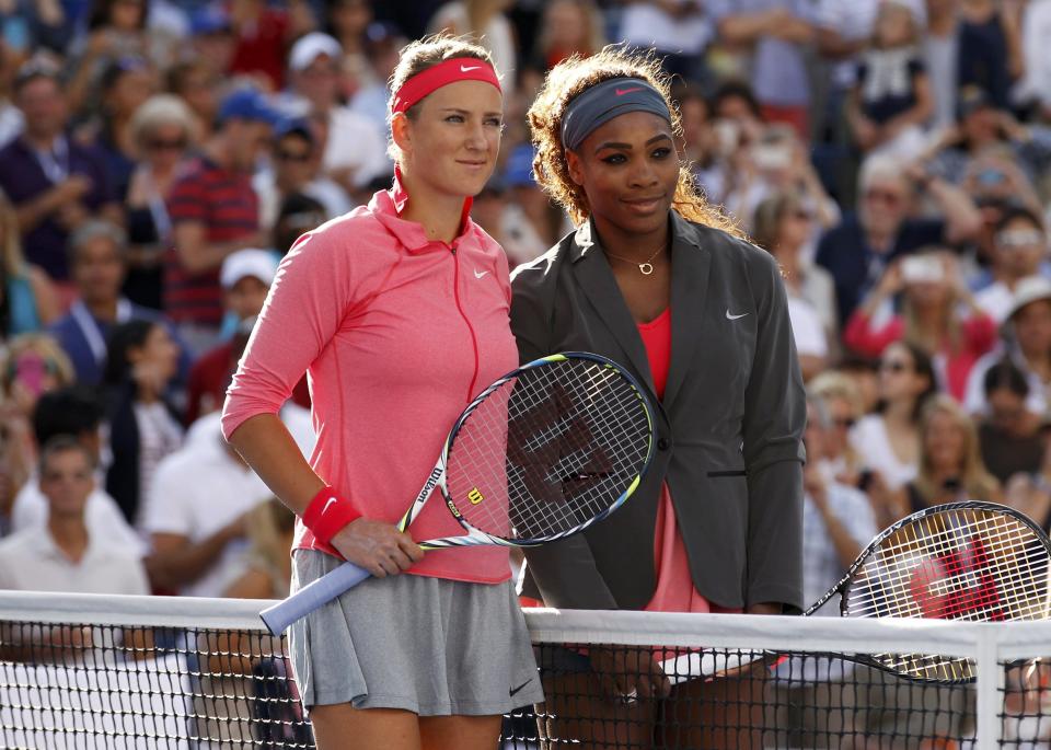
M798 611L806 399L776 263L697 191L655 59L608 47L559 64L529 123L535 177L578 228L512 275L519 358L605 355L660 408L643 486L609 520L527 552L524 592L558 608ZM542 665L548 708L577 696L579 717L589 695L593 720L548 722L552 737L759 747L761 669L671 689L657 656L562 656Z

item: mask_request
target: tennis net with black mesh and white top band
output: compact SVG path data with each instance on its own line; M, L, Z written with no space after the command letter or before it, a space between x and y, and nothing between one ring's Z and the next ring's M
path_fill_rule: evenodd
M0 592L0 747L312 747L259 604ZM503 748L1051 747L1048 623L528 622L547 701L505 716ZM979 679L922 683L864 662L888 653L979 659Z

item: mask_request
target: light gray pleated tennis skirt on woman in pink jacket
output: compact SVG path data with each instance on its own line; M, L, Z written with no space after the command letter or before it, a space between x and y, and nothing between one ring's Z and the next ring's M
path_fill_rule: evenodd
M297 551L292 590L339 563ZM419 716L488 716L544 700L510 581L369 578L293 624L289 651L308 708L350 703Z

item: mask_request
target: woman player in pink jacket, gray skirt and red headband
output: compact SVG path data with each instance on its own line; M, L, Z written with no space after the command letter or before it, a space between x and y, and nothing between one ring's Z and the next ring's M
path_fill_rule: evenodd
M223 430L298 516L293 589L343 559L374 576L291 628L317 747L490 750L503 713L542 700L507 551L424 558L394 524L454 418L517 365L507 259L469 218L504 101L488 53L448 37L405 47L391 91L394 186L281 262ZM304 371L310 463L277 417ZM412 531L461 533L441 504Z

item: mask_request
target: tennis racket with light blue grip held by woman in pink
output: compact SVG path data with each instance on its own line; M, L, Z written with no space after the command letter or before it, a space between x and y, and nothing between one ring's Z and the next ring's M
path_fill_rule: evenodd
M652 455L652 407L628 372L593 354L543 357L467 405L397 528L437 487L466 534L419 542L424 550L563 539L623 505ZM261 616L277 635L368 577L345 563Z

